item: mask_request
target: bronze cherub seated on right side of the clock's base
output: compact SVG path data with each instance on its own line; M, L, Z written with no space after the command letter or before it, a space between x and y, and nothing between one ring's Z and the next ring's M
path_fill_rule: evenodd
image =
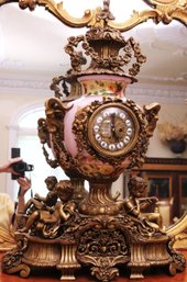
M124 200L123 207L128 214L131 214L146 222L147 225L161 230L163 227L162 216L158 211L158 199L147 196L147 183L141 177L131 177L129 181L130 196ZM153 212L147 212L150 206L154 206Z

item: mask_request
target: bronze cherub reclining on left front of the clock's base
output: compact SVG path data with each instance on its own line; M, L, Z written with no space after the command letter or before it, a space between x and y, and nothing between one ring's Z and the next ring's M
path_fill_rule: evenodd
M36 230L41 230L45 238L54 238L58 229L74 214L76 204L72 201L74 188L69 180L61 180L55 191L61 201L57 201L54 208L34 211L28 218L25 227L20 232L28 232L34 224Z

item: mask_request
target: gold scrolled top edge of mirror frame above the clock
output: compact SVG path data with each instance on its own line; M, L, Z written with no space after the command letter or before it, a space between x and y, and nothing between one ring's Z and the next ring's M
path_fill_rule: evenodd
M143 1L143 0L142 0ZM82 18L77 19L73 18L65 9L63 9L63 1L56 3L52 0L0 0L0 4L19 2L21 9L29 8L31 11L35 9L36 5L43 5L46 10L53 13L59 21L64 24L72 27L82 27L82 26L94 26L96 24L103 24L102 21L98 19L98 11L101 11L101 8L96 10L86 10ZM105 12L108 11L108 1L105 2ZM144 0L152 9L144 10L142 12L133 11L131 18L122 23L116 23L113 18L109 18L108 25L114 29L118 29L122 32L129 31L150 19L156 23L163 22L168 24L173 20L178 20L184 24L187 24L187 0ZM100 20L102 18L100 16Z

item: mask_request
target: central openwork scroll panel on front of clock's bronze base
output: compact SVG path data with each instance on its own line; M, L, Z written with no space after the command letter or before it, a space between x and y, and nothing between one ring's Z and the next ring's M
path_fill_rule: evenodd
M116 267L130 260L130 250L122 230L114 228L110 217L96 218L86 230L81 230L77 248L77 259L90 264L91 274L100 281L109 281L119 275Z

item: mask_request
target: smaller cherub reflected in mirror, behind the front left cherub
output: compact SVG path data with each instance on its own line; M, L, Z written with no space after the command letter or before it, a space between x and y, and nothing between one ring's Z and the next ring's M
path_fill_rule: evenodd
M55 185L57 184L56 177L47 177L45 179L45 183L50 192L46 194L45 198L40 196L40 194L37 193L34 195L34 198L31 198L25 204L24 213L29 208L31 208L31 211L29 211L29 213L31 213L34 210L42 210L45 206L53 206L56 204L57 202L57 194L55 191Z

